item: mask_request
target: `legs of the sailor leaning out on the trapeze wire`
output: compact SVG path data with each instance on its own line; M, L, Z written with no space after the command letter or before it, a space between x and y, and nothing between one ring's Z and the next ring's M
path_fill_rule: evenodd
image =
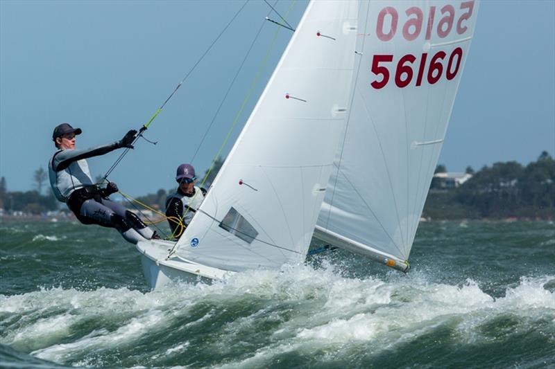
M123 208L123 206L121 206L121 208ZM125 212L123 213L125 214ZM123 238L132 244L137 244L139 241L146 241L146 238L137 233L125 217L116 213L112 208L105 206L105 201L102 203L94 199L85 201L81 206L80 215L85 219L91 220L91 224L116 228Z

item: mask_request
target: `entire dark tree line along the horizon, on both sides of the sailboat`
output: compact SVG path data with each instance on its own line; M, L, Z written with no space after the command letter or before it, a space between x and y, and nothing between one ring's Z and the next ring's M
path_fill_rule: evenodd
M198 185L207 176L204 187L208 188L222 164L223 159L217 159L212 170L199 177ZM447 172L447 168L438 165L436 172ZM490 167L484 165L477 172L468 167L466 172L472 178L456 188L440 188L437 181L432 181L423 216L432 219L555 218L555 160L549 153L542 152L537 161L526 166L509 161ZM8 191L6 179L1 177L0 209L31 214L66 210L53 196L47 179L47 172L38 168L33 172L33 190L22 192ZM167 195L175 190L161 188L137 199L164 212Z

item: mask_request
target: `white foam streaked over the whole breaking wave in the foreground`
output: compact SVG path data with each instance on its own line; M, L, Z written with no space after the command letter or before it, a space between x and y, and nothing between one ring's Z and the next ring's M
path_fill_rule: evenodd
M521 278L504 296L494 298L470 279L447 285L429 282L425 273L344 278L334 266L314 270L300 265L237 273L212 285L169 285L146 294L126 288L78 291L58 287L0 295L0 313L22 316L17 328L10 330L8 325L2 341L15 348L31 348L42 359L68 363L72 357L98 358L114 347L133 347L144 336L171 329L176 319L189 316L199 302L210 300L225 309L230 303L253 300L264 304L225 323L214 345L222 352L233 350L237 335L252 330L253 323L280 322L268 332L270 344L248 359L229 364L264 366L268 358L290 350L312 352L357 341L372 342L376 351L387 350L444 324L453 326L462 341L479 341L483 339L479 325L506 314L555 321L554 292L544 287L552 280L555 276ZM217 314L217 309L210 309L185 327L205 324ZM91 317L110 321L117 328L94 327L73 342L60 343L72 327ZM189 341L163 349L165 354L182 354L189 349ZM79 365L98 366L99 362L85 360Z

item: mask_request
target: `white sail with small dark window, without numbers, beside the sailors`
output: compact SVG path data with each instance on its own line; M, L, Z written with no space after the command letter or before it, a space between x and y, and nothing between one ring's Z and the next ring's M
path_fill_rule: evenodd
M231 271L304 260L345 125L357 3L309 3L178 255Z

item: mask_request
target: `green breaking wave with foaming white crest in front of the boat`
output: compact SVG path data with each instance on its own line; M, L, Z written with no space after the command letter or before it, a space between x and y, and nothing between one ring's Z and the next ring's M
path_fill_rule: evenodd
M425 354L422 342L431 337L487 348L539 332L555 347L555 276L522 277L497 297L472 279L448 285L418 272L345 278L331 265L146 293L58 287L0 295L0 328L4 345L71 366L257 368L289 358L364 367L407 346L411 355ZM457 364L437 360L424 362Z

